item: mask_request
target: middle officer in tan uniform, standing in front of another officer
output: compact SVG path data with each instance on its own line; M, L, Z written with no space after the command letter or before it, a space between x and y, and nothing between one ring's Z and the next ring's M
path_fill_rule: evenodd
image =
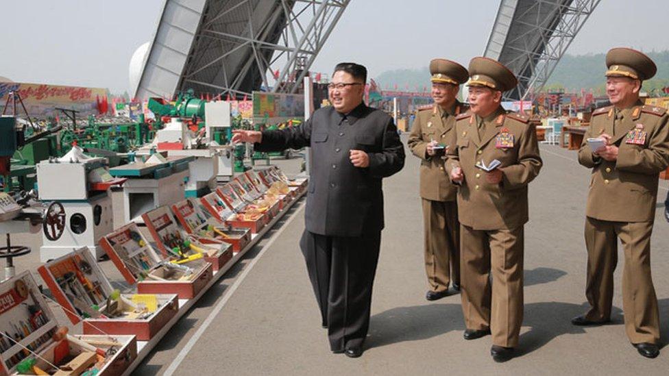
M472 59L469 73L470 112L456 118L456 147L446 162L451 181L460 186L464 338L492 334L490 353L504 362L513 357L522 324L528 183L542 159L528 118L500 104L502 92L518 83L513 73L489 58ZM494 160L500 164L489 172L479 167Z

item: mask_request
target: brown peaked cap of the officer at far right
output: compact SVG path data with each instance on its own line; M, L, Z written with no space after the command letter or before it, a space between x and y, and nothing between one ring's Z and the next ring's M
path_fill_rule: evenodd
M633 79L649 79L657 72L653 60L635 49L618 47L607 52L607 77L622 76Z

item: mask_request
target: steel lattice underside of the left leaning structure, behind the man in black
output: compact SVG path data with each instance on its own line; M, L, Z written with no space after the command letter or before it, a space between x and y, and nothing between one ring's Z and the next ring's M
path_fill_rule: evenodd
M294 93L348 3L211 1L179 89L239 97L262 85Z

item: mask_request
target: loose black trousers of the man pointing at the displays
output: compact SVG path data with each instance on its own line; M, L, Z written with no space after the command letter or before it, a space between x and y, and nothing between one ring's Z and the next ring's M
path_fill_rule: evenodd
M380 231L357 237L302 234L300 248L332 351L365 341L380 242Z

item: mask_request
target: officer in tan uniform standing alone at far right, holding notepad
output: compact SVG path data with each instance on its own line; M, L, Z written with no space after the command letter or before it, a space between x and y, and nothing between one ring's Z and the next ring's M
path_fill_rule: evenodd
M641 355L655 358L659 313L650 279L650 233L658 175L669 165L668 116L664 109L639 100L642 81L657 71L650 58L633 49L615 48L607 53L606 63L606 89L613 105L593 112L579 150L579 162L592 168L585 208L585 296L591 308L572 323L609 322L620 238L625 331ZM600 138L606 146L592 150L587 138Z

